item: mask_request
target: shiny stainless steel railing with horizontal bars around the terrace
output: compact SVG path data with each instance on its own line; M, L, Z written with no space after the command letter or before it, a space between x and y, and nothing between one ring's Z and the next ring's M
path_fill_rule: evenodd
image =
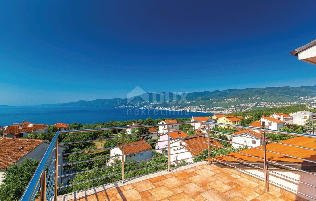
M188 137L181 137L181 138L177 138L177 139L170 139L170 126L171 125L183 125L183 124L191 124L191 123L207 123L207 133L204 133L204 138L207 138L207 142L203 141L203 142L195 142L192 144L179 144L179 145L172 145L171 143L174 143L176 140L184 140L184 139L190 139L190 138L195 138L197 136L201 136L201 135L191 135ZM242 136L243 138L247 138L247 139L255 139L255 140L260 140L260 145L262 144L261 148L255 147L255 146L251 146L251 145L247 145L247 144L241 144L241 143L237 143L237 142L233 142L233 144L236 145L240 145L240 146L246 146L252 149L256 149L256 150L261 150L263 152L262 157L260 156L254 156L252 154L248 154L248 153L244 153L244 152L240 152L245 156L249 156L249 157L254 157L257 160L260 160L262 162L257 162L257 163L252 163L252 162L246 162L243 160L239 160L236 159L235 157L231 157L229 155L224 155L221 154L219 152L217 152L214 148L221 148L221 149L225 149L231 152L239 152L236 151L235 149L232 149L231 147L227 146L227 147L222 147L222 146L218 146L212 143L212 141L210 141L210 139L215 139L218 142L228 142L228 143L232 143L229 140L224 140L224 139L220 139L218 138L216 135L216 137L214 135L212 135L212 137L210 137L210 132L212 133L217 133L217 134L225 134L225 135L232 135L232 136L239 136L237 134L231 134L231 133L225 133L225 132L220 132L220 131L216 131L214 130L214 128L210 128L210 125L208 124L208 122L204 122L204 121L194 121L194 122L180 122L180 123L170 123L170 124L163 124L163 126L167 126L167 132L166 133L154 133L154 134L140 134L140 135L127 135L125 133L125 129L126 128L131 128L131 129L135 129L135 128L144 128L144 127L159 127L161 126L161 124L156 124L156 125L137 125L137 126L128 126L128 127L110 127L110 128L96 128L96 129L84 129L84 130L70 130L70 131L59 131L55 134L54 138L52 139L51 144L49 145L46 153L44 154L43 158L40 161L40 164L38 166L38 168L36 169L35 173L33 174L32 179L30 180L29 184L27 185L27 188L25 189L21 200L34 200L35 198L39 197L39 200L57 200L57 193L58 193L58 189L64 189L73 185L77 185L77 184L81 184L81 183L85 183L85 182L90 182L90 181L94 181L94 180L100 180L100 179L105 179L107 177L113 177L113 176L119 176L121 175L121 183L125 182L125 174L130 173L130 172L134 172L134 171L138 171L138 170L143 170L146 168L154 168L154 167L158 167L158 166L163 166L165 167L165 170L170 171L173 167L174 164L178 164L178 162L181 161L188 161L190 160L190 162L193 162L193 159L196 157L205 157L205 159L207 159L208 164L210 165L211 163L213 163L213 161L216 162L216 164L222 164L226 167L230 167L230 168L235 168L237 170L240 171L244 171L246 168L255 168L257 170L261 170L264 172L264 176L258 176L256 174L253 174L251 172L247 172L247 174L252 175L256 178L259 178L260 180L264 181L265 184L265 190L269 191L269 185L270 183L272 184L276 184L275 181L272 181L269 179L269 175L273 174L273 175L279 175L282 177L285 177L291 180L295 180L297 182L300 182L302 184L308 185L308 186L312 186L314 188L316 188L316 186L313 186L312 184L309 184L307 182L303 182L300 180L297 180L295 178L290 178L289 176L277 173L276 171L272 171L271 167L282 167L284 169L287 170L291 170L291 171L298 171L298 172L303 172L303 173L307 173L313 176L316 176L316 174L312 173L311 171L308 170L303 170L300 168L295 168L292 167L289 164L283 164L283 163L277 163L275 161L271 161L267 158L267 152L270 153L274 153L274 154L278 154L278 155L283 155L286 157L290 157L290 158L295 158L295 159L299 159L299 160L303 160L309 163L316 163L316 161L310 160L310 159L304 159L304 158L300 158L300 157L295 157L295 156L291 156L291 155L287 155L287 154L283 154L283 153L279 153L276 151L271 151L271 150L267 150L266 148L266 144L267 143L276 143L279 145L287 145L290 148L291 147L296 147L296 148L303 148L303 149L307 149L310 151L316 151L316 149L313 148L308 148L308 147L301 147L301 146L297 146L297 145L288 145L288 144L284 144L281 142L273 142L270 141L268 139L266 139L265 134L267 132L273 132L273 133L280 133L280 134L286 134L286 135L294 135L294 136L303 136L303 137L310 137L310 138L316 138L315 135L309 135L309 134L300 134L300 133L289 133L289 132L283 132L283 131L274 131L274 130L267 130L267 129L263 129L263 128L254 128L254 127L245 127L245 126L239 126L239 125L230 125L230 124L223 124L223 123L216 123L216 122L212 122L212 124L215 124L217 126L224 126L224 127L236 127L238 126L238 128L243 128L243 129L252 129L252 130L258 130L262 132L262 138L258 139L252 136ZM104 139L88 139L88 140L82 140L82 141L76 141L76 142L64 142L64 143L58 143L58 137L62 134L76 134L76 133L85 133L85 132L95 132L95 131L107 131L107 130L122 130L122 137L111 137L111 138L104 138ZM194 129L191 130L185 130L184 132L187 131L193 131ZM125 139L128 139L130 137L145 137L145 136L152 136L152 135L159 135L159 136L163 136L163 135L167 135L168 139L166 140L162 140L159 138L159 140L157 141L150 141L150 142L146 142L146 143L140 143L138 145L142 145L142 144L154 144L154 145L161 145L161 143L165 143L165 145L167 145L167 147L164 147L163 149L167 148L167 153L165 155L161 155L158 157L151 157L151 158L145 158L145 159L141 159L141 160L137 160L137 161L128 161L126 160L126 156L128 155L133 155L133 154L140 154L140 153L147 153L147 152L152 152L152 151L161 151L161 149L156 149L158 147L155 147L155 149L151 149L151 150L145 150L145 151L138 151L135 153L125 153L126 148L128 148L129 146L135 146L135 145L129 145L125 143ZM82 151L75 151L75 152L65 152L65 153L61 153L60 151L58 152L58 147L60 145L71 145L71 144L77 144L77 143L91 143L91 142L95 142L95 141L101 141L101 140L110 140L110 139L121 139L122 140L122 145L119 146L114 146L114 147L103 147L103 148L96 148L96 149L91 149L91 150L82 150ZM185 147L186 145L193 145L193 144L197 144L197 143L204 143L205 145L207 144L207 148L205 148L205 146L201 146L200 148L197 148L195 150L181 150L180 152L175 152L175 153L171 153L171 150L174 149L178 149L181 147ZM58 164L58 157L63 157L63 156L68 156L68 155L72 155L72 154L79 154L79 153L86 153L86 152L96 152L96 151L102 151L102 150L111 150L113 148L117 148L119 147L121 149L121 154L119 155L114 155L114 156L106 156L106 157L100 157L100 158L90 158L88 160L84 160L84 161L75 161L75 162L68 162L68 163L59 163ZM192 157L186 157L186 158L181 158L178 156L178 154L181 153L185 153L185 152L190 152L190 151L200 151L200 154L198 154L197 156L193 156L191 154ZM203 153L203 151L207 151L207 155L205 155ZM210 157L210 154L214 153L217 156L225 156L227 158L230 158L234 161L237 161L240 164L240 167L237 167L236 165L234 166L234 164L232 164L230 161L224 161L224 160L218 160L218 158L216 157ZM189 155L188 155L189 156ZM121 163L111 163L109 165L103 166L103 167L96 167L96 168L90 168L87 170L83 170L83 171L79 171L79 172L71 172L68 174L58 174L58 170L62 170L63 167L65 166L69 166L69 165L77 165L80 163L87 163L87 162L92 162L92 161L99 161L99 160L108 160L108 159L112 159L113 157L121 157ZM141 163L141 162L146 162L146 161L150 161L152 159L155 158L161 158L161 157L167 157L167 162L165 163L161 163L161 164L155 164L152 166L146 166L146 167L142 167L142 168L138 168L138 169L131 169L131 170L126 170L125 166L127 164L130 163ZM173 159L173 160L171 160ZM177 160L175 160L177 159ZM211 162L212 160L212 162ZM60 162L63 160L60 160ZM243 167L241 167L241 165L243 165ZM73 175L77 175L77 174L82 174L82 173L87 173L87 172L91 172L91 171L98 171L98 170L102 170L105 168L113 168L113 167L117 167L117 166L121 166L122 167L122 172L121 173L113 173L113 174L108 174L108 175L104 175L104 176L100 176L98 178L93 178L93 179L88 179L88 180L83 180L83 181L78 181L76 183L70 183L70 184L66 184L66 185L62 185L62 179L68 176L73 176ZM171 167L173 166L173 167ZM316 165L315 165L316 167ZM160 170L161 171L161 170ZM62 172L62 171L60 171ZM133 177L131 177L133 178ZM131 179L129 178L129 179ZM60 185L58 185L58 181ZM286 186L283 186L281 184L278 184L279 186L282 186L284 189L289 189ZM291 191L294 191L296 193L300 193L302 195L305 195L309 198L313 198L310 195L307 195L305 193L302 192L298 192L295 191L293 189L290 189ZM315 199L315 198L313 198Z

